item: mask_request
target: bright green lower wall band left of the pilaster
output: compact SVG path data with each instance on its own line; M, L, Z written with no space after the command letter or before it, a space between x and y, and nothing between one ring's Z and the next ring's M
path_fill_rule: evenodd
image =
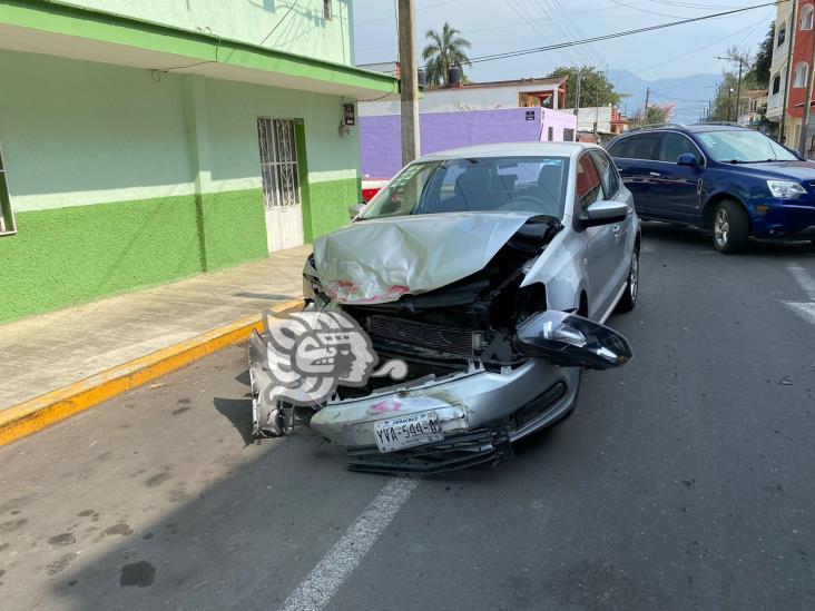
M0 238L0 321L203 270L194 196L17 215Z

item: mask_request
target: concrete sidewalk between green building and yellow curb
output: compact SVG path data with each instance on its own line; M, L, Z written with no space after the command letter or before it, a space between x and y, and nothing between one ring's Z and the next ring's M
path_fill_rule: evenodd
M0 413L302 295L311 245L0 325Z

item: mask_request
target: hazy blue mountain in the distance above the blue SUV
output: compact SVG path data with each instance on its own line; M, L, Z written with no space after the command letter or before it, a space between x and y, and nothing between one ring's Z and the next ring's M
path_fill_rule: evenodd
M649 104L676 104L670 119L680 124L696 122L701 108L716 95L716 86L721 80L719 75L699 73L688 77L645 80L628 70L609 70L608 78L619 93L628 95L620 102L620 108L629 117L637 109L645 108L646 89L651 88Z

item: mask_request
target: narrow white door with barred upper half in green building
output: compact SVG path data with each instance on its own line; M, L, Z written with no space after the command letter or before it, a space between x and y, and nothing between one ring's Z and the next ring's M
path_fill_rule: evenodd
M303 244L294 119L257 119L268 252Z

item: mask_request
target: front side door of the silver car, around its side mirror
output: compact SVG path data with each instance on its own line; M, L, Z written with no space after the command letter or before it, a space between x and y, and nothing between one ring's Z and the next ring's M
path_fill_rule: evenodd
M577 166L577 203L576 213L587 218L586 208L605 198L602 181L597 166L587 151L580 156ZM581 264L586 268L589 280L589 318L598 319L610 307L611 290L615 285L615 270L618 262L615 257L616 236L611 225L585 227L582 236L586 242L586 256Z

